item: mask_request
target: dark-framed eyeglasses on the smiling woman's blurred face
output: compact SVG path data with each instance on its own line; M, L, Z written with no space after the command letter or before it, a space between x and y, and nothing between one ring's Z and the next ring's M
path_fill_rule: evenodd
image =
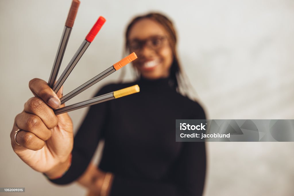
M152 36L144 40L134 39L128 43L130 51L138 52L146 45L152 50L159 50L162 48L166 36Z

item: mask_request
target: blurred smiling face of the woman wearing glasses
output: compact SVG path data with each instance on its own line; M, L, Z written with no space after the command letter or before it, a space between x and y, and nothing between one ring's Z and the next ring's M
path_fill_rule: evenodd
M166 78L173 62L168 34L161 24L142 19L131 28L128 36L131 52L138 58L133 66L147 79Z

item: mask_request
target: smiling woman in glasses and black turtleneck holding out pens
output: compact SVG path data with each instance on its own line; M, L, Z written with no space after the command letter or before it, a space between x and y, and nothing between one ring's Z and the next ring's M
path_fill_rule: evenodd
M36 97L26 102L11 132L14 152L52 182L77 180L90 195L202 195L205 143L175 142L174 125L176 119L205 119L205 113L177 92L183 83L171 21L157 13L133 19L126 48L138 56L138 80L104 86L96 96L135 84L140 93L91 106L73 139L69 115L52 110L60 107L62 91L56 95L45 81L33 79ZM102 138L97 168L90 161Z

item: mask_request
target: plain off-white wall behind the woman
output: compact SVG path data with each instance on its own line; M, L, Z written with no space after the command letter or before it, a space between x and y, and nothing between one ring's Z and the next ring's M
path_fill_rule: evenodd
M49 78L70 4L0 1L0 187L26 188L13 195L86 193L77 184L50 184L14 154L9 139L15 115L32 96L29 80ZM127 23L147 11L161 11L174 21L179 56L209 119L294 118L292 0L81 0L61 70L98 16L107 21L64 84L64 93L120 60ZM119 75L113 73L69 103L90 98ZM86 109L70 113L75 128L85 113ZM294 143L207 146L205 196L294 194Z

